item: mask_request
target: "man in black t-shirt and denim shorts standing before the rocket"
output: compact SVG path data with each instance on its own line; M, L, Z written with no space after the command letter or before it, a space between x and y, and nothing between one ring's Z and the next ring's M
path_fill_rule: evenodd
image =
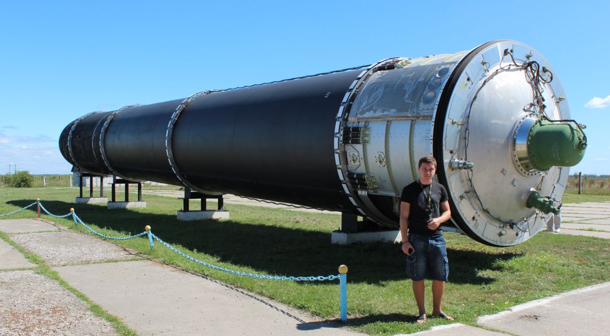
M419 180L404 187L400 197L402 250L407 254L407 276L413 281L413 294L419 309L417 323L426 323L424 279L432 279L432 316L453 318L441 309L445 282L449 275L447 249L440 225L451 218L447 190L432 177L436 159L426 155L417 164Z

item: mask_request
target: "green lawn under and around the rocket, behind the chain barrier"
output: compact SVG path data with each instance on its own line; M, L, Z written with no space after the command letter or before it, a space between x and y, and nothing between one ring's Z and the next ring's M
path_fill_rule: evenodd
M340 226L339 215L229 204L226 207L231 211L230 220L179 222L176 211L181 209L182 201L178 199L145 195L147 208L108 211L106 205L74 205L76 194L76 188L6 188L2 190L0 214L29 205L40 197L49 211L65 214L74 207L82 220L110 236L137 234L145 225L151 225L154 234L174 247L221 267L268 275L326 276L337 274L337 267L345 264L350 268L351 327L368 334L391 335L448 323L437 319L428 320L425 326L414 323L417 307L398 245L332 245L330 234ZM32 211L24 211L11 218L33 215ZM45 218L73 226L70 220ZM515 247L493 248L459 234L447 233L445 237L451 271L443 307L460 323L474 325L481 315L610 281L608 240L539 234ZM145 238L118 243L160 262L274 298L321 318L334 320L339 315L337 281L246 278L188 261L159 243L151 250ZM427 285L429 288L429 282ZM429 289L426 294L426 307L431 309Z

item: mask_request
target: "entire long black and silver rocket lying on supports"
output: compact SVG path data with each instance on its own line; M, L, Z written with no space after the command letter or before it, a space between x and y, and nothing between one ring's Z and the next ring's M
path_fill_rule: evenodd
M84 172L357 214L398 228L437 159L454 225L510 246L559 212L587 139L547 60L517 41L86 114L59 139Z

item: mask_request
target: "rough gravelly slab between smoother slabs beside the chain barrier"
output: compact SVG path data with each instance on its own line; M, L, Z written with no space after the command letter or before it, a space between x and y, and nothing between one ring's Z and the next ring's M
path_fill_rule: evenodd
M134 252L73 231L15 234L11 239L49 265L133 259Z

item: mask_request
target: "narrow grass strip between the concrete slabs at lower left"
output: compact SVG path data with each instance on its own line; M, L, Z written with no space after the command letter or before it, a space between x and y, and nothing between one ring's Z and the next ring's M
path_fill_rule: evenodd
M5 212L0 212L0 214L3 214L3 213L5 213ZM11 218L13 218L13 217L11 217ZM93 301L91 301L87 296L85 296L83 293L79 292L77 289L75 289L70 284L68 284L68 282L66 282L62 278L60 278L59 274L56 271L52 270L52 268L50 268L48 265L46 265L45 262L39 256L37 256L34 253L29 253L23 247L21 247L20 245L18 245L15 242L13 242L13 240L10 239L10 237L5 233L0 232L0 239L9 243L12 247L16 248L16 250L23 253L23 255L30 262L32 262L32 264L36 265L35 268L22 268L22 269L24 269L24 270L34 269L36 271L36 273L38 273L40 275L44 275L47 278L56 280L59 283L59 285L61 285L65 289L69 290L77 298L79 298L82 301L84 301L85 303L87 303L88 309L93 313L93 315L96 315L97 317L103 318L104 320L108 321L115 328L115 330L118 332L118 334L125 335L125 336L130 336L130 335L136 336L137 335L137 333L134 330L132 330L130 327L126 326L126 324L124 324L123 321L119 320L114 315L107 313L106 310L102 309L102 307L93 303Z

